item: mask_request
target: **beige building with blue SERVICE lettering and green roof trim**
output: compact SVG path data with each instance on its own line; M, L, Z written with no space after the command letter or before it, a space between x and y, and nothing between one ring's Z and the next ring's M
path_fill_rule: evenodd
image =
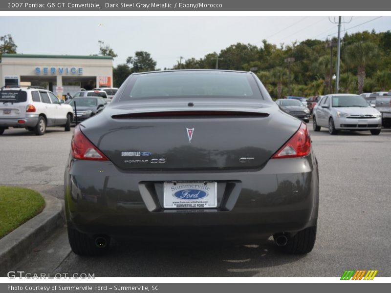
M67 92L113 86L110 56L2 54L0 86L44 86L62 98Z

